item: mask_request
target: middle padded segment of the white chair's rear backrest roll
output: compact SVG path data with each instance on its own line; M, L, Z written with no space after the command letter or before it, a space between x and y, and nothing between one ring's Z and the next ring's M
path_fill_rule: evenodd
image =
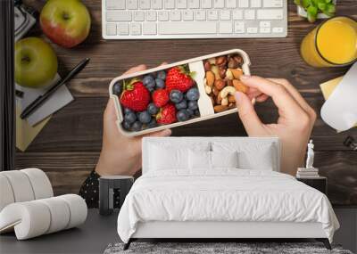
M10 170L0 172L0 175L9 180L15 202L33 201L35 199L29 177L25 173L20 170Z

